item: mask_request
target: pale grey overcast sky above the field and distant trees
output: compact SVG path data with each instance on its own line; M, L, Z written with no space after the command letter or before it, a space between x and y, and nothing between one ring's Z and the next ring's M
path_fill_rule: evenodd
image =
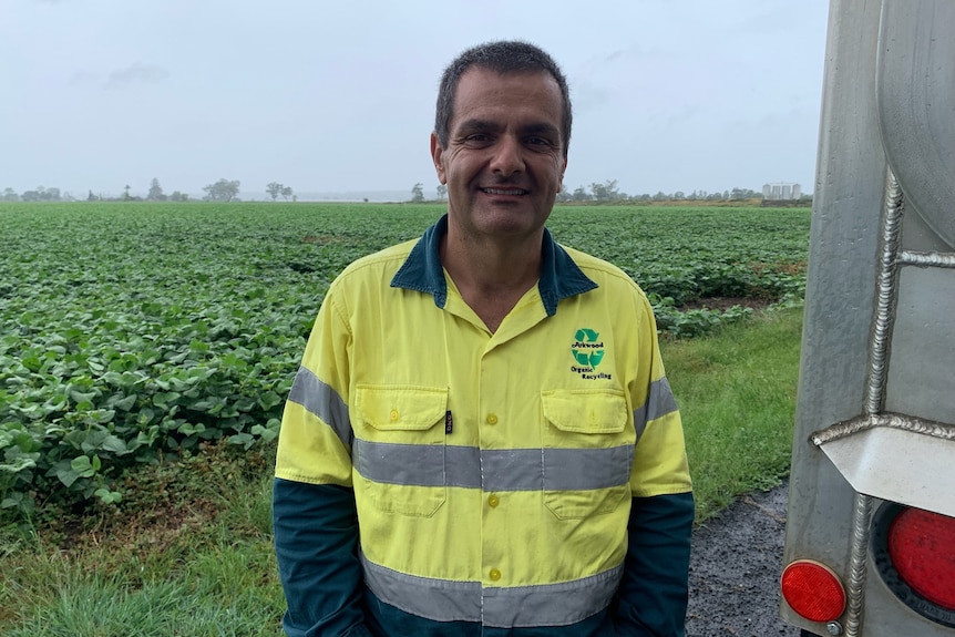
M571 84L565 185L813 189L824 0L0 0L0 189L408 191L486 40Z

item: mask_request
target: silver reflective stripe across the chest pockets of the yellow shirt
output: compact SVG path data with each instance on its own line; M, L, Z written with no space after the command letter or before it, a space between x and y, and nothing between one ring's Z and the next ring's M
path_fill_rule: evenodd
M355 468L374 482L484 491L571 491L626 484L634 446L509 449L355 441ZM483 476L483 477L482 477Z

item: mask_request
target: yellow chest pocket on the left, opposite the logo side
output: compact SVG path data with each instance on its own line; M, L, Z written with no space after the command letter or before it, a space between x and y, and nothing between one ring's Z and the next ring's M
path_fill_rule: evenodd
M356 496L388 513L433 515L446 497L446 388L356 388Z

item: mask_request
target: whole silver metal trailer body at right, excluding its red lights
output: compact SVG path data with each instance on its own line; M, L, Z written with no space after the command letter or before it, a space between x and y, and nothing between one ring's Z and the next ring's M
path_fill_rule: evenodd
M879 501L856 497L826 456L835 458L856 486L864 484L867 495L898 497L894 501L952 515L951 494L949 501L936 496L955 483L955 462L945 462L955 456L955 442L937 438L926 444L912 431L864 431L821 449L810 440L834 423L881 418L883 411L903 414L903 420L955 423L955 264L945 261L955 228L953 25L953 0L833 0L830 6L783 559L817 559L855 594L858 606L850 605L841 626L832 627L844 628L846 637L955 635L901 604L875 573L869 551L858 549L866 546L867 536L866 525L855 520L867 522ZM889 193L896 189L890 168L907 188L907 205L898 206L905 208L900 249L912 265L897 270L881 265L882 225L891 216ZM931 254L946 251L949 257ZM880 277L889 270L897 298L887 312L892 320L880 325L886 309ZM879 339L886 341L884 361L872 358ZM866 439L874 441L869 461L859 452L866 449ZM845 441L856 450L840 449ZM927 492L917 493L926 486L920 484L926 482L924 474L912 482L911 492L890 490L893 471L904 471L905 462L874 475L872 465L862 466L889 464L900 445L917 448L910 453L934 463L937 480ZM853 462L862 469L849 466ZM863 535L861 542L854 534ZM780 612L793 625L829 634L826 626L800 618L784 602Z

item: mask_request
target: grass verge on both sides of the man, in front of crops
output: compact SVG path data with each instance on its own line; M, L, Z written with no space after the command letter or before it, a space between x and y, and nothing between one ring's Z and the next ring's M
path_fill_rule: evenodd
M789 468L801 308L661 343L705 523ZM210 445L125 477L120 507L0 530L4 637L278 637L273 445Z

